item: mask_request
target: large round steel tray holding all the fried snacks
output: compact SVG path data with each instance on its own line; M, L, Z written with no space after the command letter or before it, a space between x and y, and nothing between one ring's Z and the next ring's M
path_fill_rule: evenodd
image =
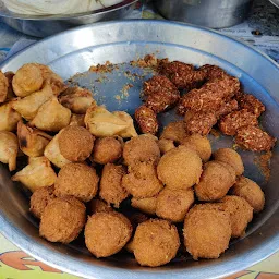
M166 21L97 23L41 40L4 62L1 69L16 71L24 63L38 62L50 65L66 80L76 72L87 71L92 64L108 60L112 63L124 62L105 84L96 83L93 73L80 75L75 81L82 86L94 86L98 100L109 109L132 112L140 102L142 82L134 82L135 86L129 92L126 100L119 104L114 97L126 83L122 72L130 69L129 62L147 53L196 65L211 63L222 66L241 80L246 92L253 93L266 105L262 123L274 136L279 137L278 65L243 43L206 28ZM165 113L160 121L167 123L172 119L174 114L170 112ZM230 137L214 141L214 148L230 145ZM267 184L253 163L255 155L248 151L241 155L245 175L257 181L265 191L266 207L254 218L246 235L233 241L219 259L194 262L185 256L186 260L178 257L165 267L150 269L140 267L128 254L96 259L78 241L70 245L49 243L38 236L38 223L28 213L27 197L20 185L12 183L3 166L0 166L0 231L34 257L84 278L194 279L227 276L263 260L279 248L279 146L274 151Z

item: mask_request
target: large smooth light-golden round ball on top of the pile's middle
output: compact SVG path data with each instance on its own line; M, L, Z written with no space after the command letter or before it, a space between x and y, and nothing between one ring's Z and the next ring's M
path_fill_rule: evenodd
M187 189L198 183L202 160L196 151L179 146L166 153L157 167L159 180L170 189Z

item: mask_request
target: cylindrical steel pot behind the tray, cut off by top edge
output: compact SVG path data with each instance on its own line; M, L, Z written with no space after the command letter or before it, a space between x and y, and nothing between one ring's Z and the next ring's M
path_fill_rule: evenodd
M159 12L169 20L210 28L229 27L244 21L252 0L155 0Z

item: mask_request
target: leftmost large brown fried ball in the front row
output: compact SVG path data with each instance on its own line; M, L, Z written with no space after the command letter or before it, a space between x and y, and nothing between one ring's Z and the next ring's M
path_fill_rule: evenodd
M57 197L46 206L39 235L50 242L70 243L81 233L86 221L85 206L73 196Z

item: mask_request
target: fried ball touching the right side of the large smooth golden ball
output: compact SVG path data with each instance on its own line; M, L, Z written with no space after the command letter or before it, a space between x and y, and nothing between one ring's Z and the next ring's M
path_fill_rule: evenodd
M204 166L195 193L199 201L218 201L226 196L234 182L235 171L230 165L209 161Z

